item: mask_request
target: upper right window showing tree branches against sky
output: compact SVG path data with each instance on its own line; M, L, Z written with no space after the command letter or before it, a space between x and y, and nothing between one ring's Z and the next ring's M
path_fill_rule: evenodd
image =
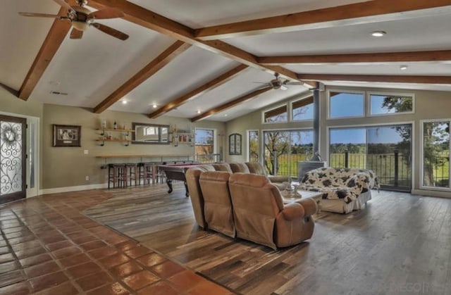
M370 115L386 115L394 113L412 113L414 97L404 95L369 95Z

